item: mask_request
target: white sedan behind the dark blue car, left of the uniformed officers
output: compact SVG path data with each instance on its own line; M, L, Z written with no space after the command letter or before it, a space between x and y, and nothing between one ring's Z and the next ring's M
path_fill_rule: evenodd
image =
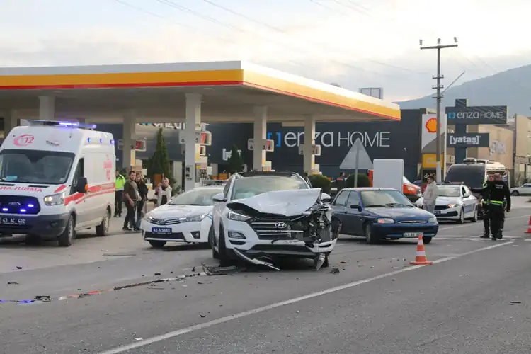
M464 220L476 222L478 219L478 200L466 185L439 184L435 201L435 216L440 220L453 220L459 224ZM424 198L419 198L415 205L423 207Z

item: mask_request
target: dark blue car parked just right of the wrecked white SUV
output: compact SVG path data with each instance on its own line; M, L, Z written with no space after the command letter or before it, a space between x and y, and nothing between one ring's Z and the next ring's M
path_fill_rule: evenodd
M341 224L341 234L363 236L368 244L418 236L429 244L439 231L435 215L392 188L345 188L331 205L332 223Z

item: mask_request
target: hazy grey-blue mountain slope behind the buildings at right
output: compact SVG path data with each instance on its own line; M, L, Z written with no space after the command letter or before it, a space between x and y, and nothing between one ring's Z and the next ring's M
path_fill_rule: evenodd
M452 107L456 98L468 105L507 105L509 115L531 115L531 65L452 86L444 93L442 107ZM432 96L397 102L401 108L435 108Z

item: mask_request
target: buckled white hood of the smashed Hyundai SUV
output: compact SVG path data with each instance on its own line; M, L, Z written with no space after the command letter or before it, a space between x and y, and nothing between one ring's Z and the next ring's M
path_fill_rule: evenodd
M243 204L265 214L293 217L302 215L313 207L320 197L321 188L275 190L251 198L232 200L227 203L227 207L232 209L231 205Z

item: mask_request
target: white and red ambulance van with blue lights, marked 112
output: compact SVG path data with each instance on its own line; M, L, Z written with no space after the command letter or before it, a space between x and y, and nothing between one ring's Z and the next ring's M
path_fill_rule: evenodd
M115 141L96 125L23 120L0 147L0 237L70 246L76 232L109 232Z

